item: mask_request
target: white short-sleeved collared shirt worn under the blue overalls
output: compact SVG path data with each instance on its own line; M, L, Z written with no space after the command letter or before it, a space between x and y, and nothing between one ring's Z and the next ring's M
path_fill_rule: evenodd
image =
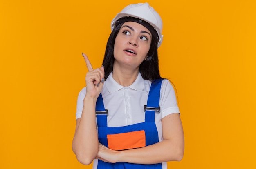
M132 85L124 87L119 85L112 77L112 73L104 82L101 91L105 109L108 109L108 127L119 127L137 124L145 121L144 105L147 104L151 82L144 80L141 74ZM86 87L78 96L76 119L80 118L83 111L83 99ZM155 113L155 123L158 131L159 142L163 140L161 119L172 113L180 113L177 106L175 91L169 80L164 79L160 90L160 113ZM162 164L163 168L166 163Z

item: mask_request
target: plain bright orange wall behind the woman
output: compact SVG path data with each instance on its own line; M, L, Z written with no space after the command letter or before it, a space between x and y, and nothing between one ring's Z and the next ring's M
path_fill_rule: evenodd
M76 98L130 3L0 1L0 168L86 169L72 152ZM160 71L176 86L185 153L172 169L256 168L256 1L148 0Z

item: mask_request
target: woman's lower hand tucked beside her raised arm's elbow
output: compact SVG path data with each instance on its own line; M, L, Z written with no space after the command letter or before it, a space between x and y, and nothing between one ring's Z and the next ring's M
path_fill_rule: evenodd
M120 151L109 149L108 147L99 143L99 150L96 158L104 162L116 163L118 162L119 152Z

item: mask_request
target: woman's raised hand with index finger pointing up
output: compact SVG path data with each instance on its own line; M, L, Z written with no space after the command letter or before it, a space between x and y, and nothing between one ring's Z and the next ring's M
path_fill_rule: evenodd
M104 82L104 67L93 69L92 64L88 57L84 54L83 57L85 59L85 63L88 69L88 73L86 74L86 95L85 97L98 98L99 93L103 88Z

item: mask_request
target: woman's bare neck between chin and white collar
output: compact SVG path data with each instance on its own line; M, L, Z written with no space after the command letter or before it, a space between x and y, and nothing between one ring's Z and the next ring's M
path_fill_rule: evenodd
M139 67L136 69L126 69L122 67L113 67L113 79L122 86L130 86L137 79Z

